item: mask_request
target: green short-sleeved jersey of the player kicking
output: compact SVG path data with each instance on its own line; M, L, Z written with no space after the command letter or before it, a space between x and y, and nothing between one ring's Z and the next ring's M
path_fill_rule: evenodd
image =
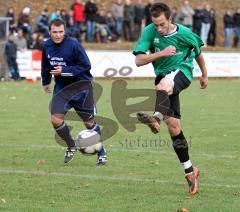
M135 55L150 51L155 53L172 45L176 48L176 55L162 57L154 61L156 75L168 74L173 70L181 70L192 81L193 59L200 55L203 42L198 35L189 28L176 24L177 30L169 35L161 36L154 24L150 24L142 32L141 38L133 50Z

